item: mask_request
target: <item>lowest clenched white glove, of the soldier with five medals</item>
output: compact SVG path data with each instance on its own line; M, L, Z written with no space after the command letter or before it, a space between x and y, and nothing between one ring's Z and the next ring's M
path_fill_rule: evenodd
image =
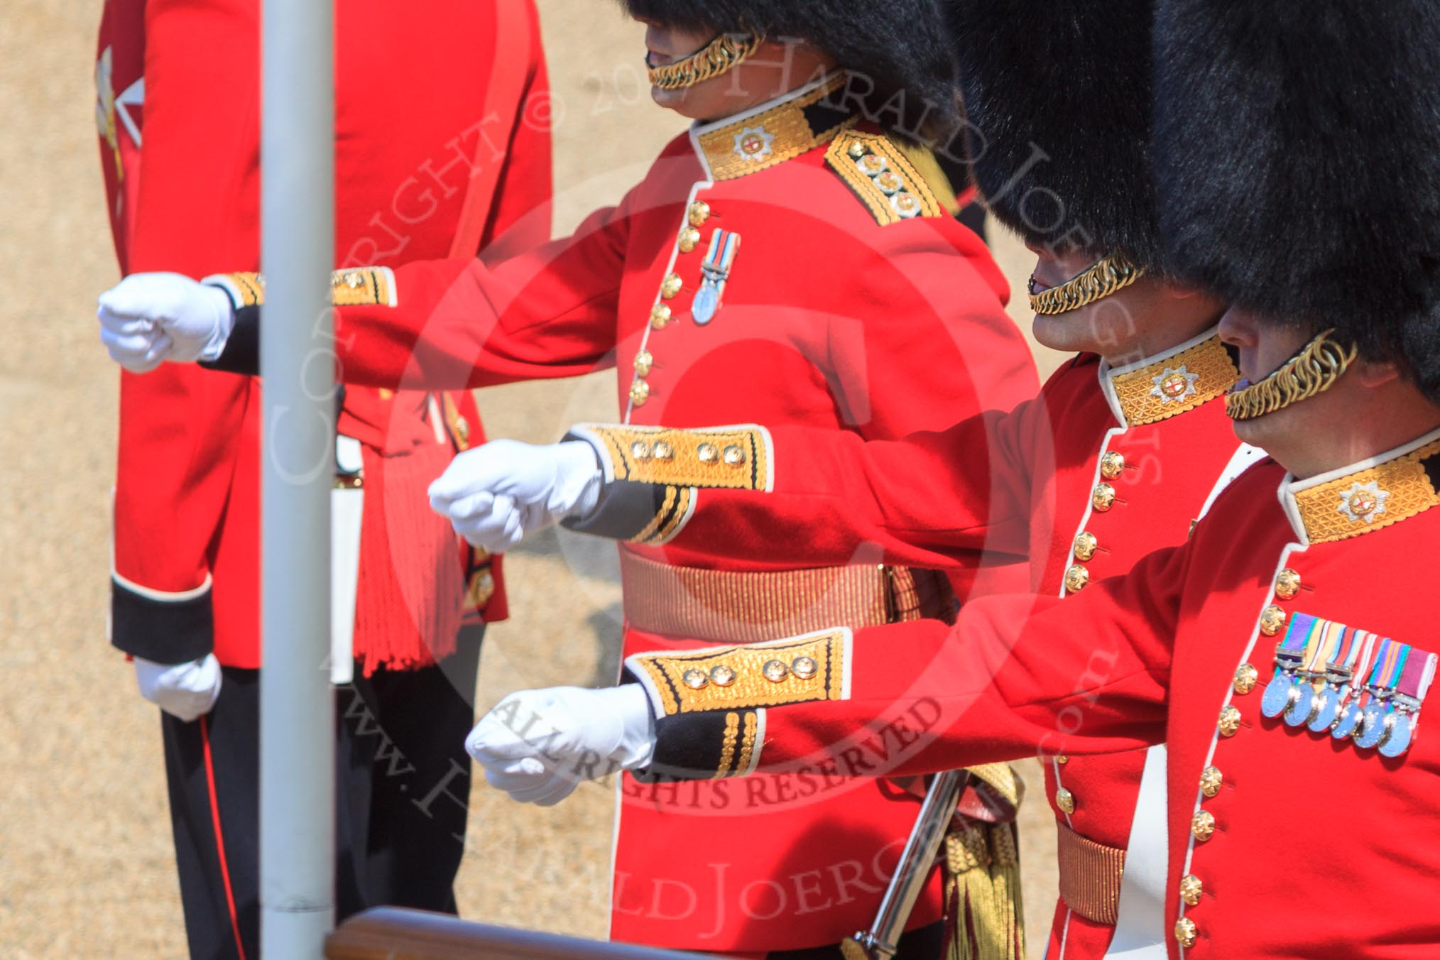
M490 786L521 803L554 806L585 780L647 766L655 718L638 684L527 689L485 714L465 750Z

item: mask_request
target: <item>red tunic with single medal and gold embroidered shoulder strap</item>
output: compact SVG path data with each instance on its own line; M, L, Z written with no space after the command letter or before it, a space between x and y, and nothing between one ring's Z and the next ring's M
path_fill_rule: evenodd
M370 273L380 294L372 299L389 304L393 292L395 305L341 307L344 376L461 387L613 364L636 427L762 422L857 438L939 427L1032 396L1030 351L1002 311L1005 282L984 243L946 214L920 173L924 158L857 127L825 98L832 86L696 127L619 207L567 240L498 263ZM703 324L693 305L717 236L711 266L727 273L723 289L711 281L719 308ZM726 263L729 236L739 249ZM240 314L222 366L239 364L230 351L252 322ZM744 456L740 472L753 476L763 450ZM723 541L661 550L687 515L674 507L651 518L644 543L622 548L626 570L815 566L739 560ZM632 604L665 592L639 593L626 574L626 652L671 642L634 623ZM799 600L786 593L778 604ZM732 784L671 793L629 777L622 796L611 933L694 950L850 936L857 917L874 915L917 810L909 794L870 780L808 805ZM732 839L742 833L765 841ZM778 905L796 888L802 907ZM936 885L916 920L939 911Z

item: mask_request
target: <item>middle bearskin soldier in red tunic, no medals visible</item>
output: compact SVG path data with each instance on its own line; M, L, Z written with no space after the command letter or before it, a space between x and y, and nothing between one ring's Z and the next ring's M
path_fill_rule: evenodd
M1181 543L1215 492L1257 459L1224 413L1240 374L1215 330L1223 302L1176 281L1162 249L1149 157L1151 0L1032 4L1025 16L985 3L955 12L975 178L1040 258L1037 338L1081 353L1038 400L906 443L773 425L772 492L687 491L696 507L671 550L704 544L768 563L844 564L880 544L887 561L940 567L988 548L1028 554L1025 586L1037 593L1073 596ZM1071 122L1100 99L1106 109ZM655 438L624 426L575 436L595 440L608 482L596 508L566 525L636 535L675 495L665 465L626 456ZM975 456L985 449L988 459ZM498 442L478 458L494 469L471 495L513 498L516 448ZM503 514L488 528L503 531ZM477 534L488 530L456 521L487 543ZM778 537L785 528L804 535ZM1061 892L1048 956L1162 948L1165 748L1044 763ZM952 853L962 841L952 836Z

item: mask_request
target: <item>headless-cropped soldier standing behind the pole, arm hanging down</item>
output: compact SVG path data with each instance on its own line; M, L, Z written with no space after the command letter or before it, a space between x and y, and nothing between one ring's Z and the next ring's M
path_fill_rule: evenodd
M259 6L105 4L96 119L122 272L258 265ZM536 109L547 86L530 3L356 0L337 17L336 60L337 266L549 236L550 138ZM168 364L122 374L120 407L112 639L166 711L190 950L253 957L259 384ZM429 517L423 494L480 430L464 391L344 396L347 489L336 497L363 497L363 514L346 545L343 914L455 907L468 759L452 741L474 717L481 617L503 619L504 596L498 564Z

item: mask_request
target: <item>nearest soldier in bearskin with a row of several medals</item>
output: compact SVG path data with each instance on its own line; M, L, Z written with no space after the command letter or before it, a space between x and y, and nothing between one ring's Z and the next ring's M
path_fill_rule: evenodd
M981 599L953 629L631 658L639 692L588 692L583 730L556 691L503 704L472 734L487 764L513 789L576 776L583 750L744 773L736 725L760 731L747 769L809 776L1165 741L1171 956L1434 956L1440 642L1416 583L1440 534L1440 12L1305 14L1158 14L1162 230L1233 304L1248 380L1227 413L1273 456L1184 545L1070 600ZM734 682L691 682L717 669Z

